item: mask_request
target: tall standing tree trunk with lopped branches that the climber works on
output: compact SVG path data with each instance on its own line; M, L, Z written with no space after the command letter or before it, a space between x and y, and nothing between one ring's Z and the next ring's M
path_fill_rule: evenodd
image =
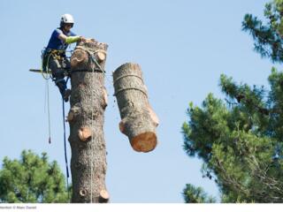
M67 120L72 148L72 202L107 202L106 150L103 135L107 105L103 69L107 44L78 43L71 57L72 94ZM98 62L97 65L94 58ZM93 69L95 69L94 72Z

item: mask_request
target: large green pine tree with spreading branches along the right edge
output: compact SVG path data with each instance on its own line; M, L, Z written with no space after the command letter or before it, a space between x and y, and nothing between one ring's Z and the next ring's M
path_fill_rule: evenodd
M266 25L247 14L243 30L253 36L262 57L280 63L283 0L266 4L264 15ZM249 87L221 75L226 99L209 94L202 107L191 102L187 109L184 149L203 159L203 177L215 180L222 202L283 202L283 73L272 68L268 81L268 89ZM185 201L193 202L197 195L189 191Z

